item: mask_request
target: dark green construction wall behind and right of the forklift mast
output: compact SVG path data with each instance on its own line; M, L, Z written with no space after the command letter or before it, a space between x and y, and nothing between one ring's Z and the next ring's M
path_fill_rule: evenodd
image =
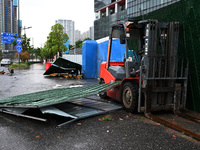
M179 55L189 59L187 108L200 112L200 0L181 0L133 19L180 22Z

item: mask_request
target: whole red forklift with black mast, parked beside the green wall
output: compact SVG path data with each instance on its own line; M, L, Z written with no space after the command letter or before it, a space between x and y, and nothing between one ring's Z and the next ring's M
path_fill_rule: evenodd
M188 61L178 57L178 22L128 20L111 25L107 61L100 66L100 84L120 82L120 85L99 93L123 103L128 112L185 109ZM125 44L124 62L110 61L112 40ZM129 57L134 50L137 56Z

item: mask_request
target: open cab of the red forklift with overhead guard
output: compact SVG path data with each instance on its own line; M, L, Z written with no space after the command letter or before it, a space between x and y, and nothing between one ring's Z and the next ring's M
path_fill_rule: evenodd
M138 57L138 52L142 50L143 45L141 39L143 38L143 27L137 26L135 22L119 22L111 26L111 35L109 40L109 51L107 56L107 69L116 78L116 80L123 80L128 77L135 77L136 72L139 70L140 58ZM111 65L110 56L111 53L115 52L112 47L112 40L120 39L120 44L126 45L124 65ZM137 50L131 50L131 44L135 42L137 44ZM131 51L130 51L131 50ZM130 56L130 54L132 54Z

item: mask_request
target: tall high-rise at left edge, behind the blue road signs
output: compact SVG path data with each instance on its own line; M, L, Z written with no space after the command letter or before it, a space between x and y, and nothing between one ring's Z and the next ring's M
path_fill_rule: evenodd
M0 30L1 33L18 33L17 0L0 0ZM10 43L1 43L2 50L9 50L13 55L15 49Z

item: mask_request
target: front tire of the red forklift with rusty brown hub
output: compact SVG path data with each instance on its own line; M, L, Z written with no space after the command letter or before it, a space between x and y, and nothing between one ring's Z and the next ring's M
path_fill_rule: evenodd
M124 109L128 112L137 112L138 106L138 84L126 82L122 88L122 102Z

